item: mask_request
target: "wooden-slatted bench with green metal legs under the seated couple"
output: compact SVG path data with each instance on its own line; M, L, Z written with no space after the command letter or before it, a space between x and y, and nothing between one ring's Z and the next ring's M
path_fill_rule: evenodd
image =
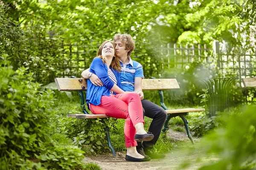
M55 82L57 84L59 91L78 91L80 96L80 103L83 110L83 114L67 114L67 117L70 118L76 118L76 119L105 119L108 116L104 114L90 114L85 109L85 102L84 102L84 94L83 91L87 90L87 80L82 78L55 78ZM168 113L166 122L163 126L162 131L166 132L166 130L169 128L168 122L172 117L180 116L180 118L183 120L184 125L186 127L186 132L191 140L191 142L194 144L194 140L192 139L192 136L189 132L189 125L188 120L185 118L186 115L189 114L189 112L201 112L205 111L203 108L195 109L195 108L183 108L183 109L172 109L169 110L165 104L163 99L163 90L169 90L169 89L177 89L180 88L178 85L178 82L176 79L143 79L142 82L142 89L143 90L158 90L160 95L160 105L161 107L166 110ZM110 136L109 136L109 127L105 127L106 137L108 141L108 146L110 147L113 156L116 157L116 152L112 146Z

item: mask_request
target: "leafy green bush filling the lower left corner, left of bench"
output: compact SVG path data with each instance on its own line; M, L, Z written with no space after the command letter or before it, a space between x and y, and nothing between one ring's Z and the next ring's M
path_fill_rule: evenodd
M38 91L33 74L14 71L5 57L0 65L0 169L81 169L83 151L49 136L52 92Z

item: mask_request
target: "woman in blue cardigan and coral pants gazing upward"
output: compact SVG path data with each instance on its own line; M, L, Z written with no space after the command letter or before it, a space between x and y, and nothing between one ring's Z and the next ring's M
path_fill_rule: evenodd
M93 114L105 114L125 120L125 147L127 161L147 161L137 150L136 141L150 141L154 135L144 130L143 108L137 93L125 93L119 77L121 66L116 56L115 45L105 41L99 47L98 57L93 59L90 72L96 74L103 86L87 81L86 102Z

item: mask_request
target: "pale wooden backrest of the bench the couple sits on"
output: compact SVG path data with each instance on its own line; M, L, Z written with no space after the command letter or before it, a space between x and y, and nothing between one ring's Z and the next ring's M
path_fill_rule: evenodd
M87 80L83 78L55 78L59 91L86 91ZM143 79L143 90L167 90L180 88L176 79Z

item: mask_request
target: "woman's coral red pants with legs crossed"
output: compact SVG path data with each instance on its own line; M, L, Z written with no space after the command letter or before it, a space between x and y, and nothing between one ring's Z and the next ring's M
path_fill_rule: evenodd
M134 140L136 129L134 125L143 122L143 108L140 96L136 93L102 96L100 105L90 104L93 114L105 114L110 117L125 120L125 147L137 146Z

